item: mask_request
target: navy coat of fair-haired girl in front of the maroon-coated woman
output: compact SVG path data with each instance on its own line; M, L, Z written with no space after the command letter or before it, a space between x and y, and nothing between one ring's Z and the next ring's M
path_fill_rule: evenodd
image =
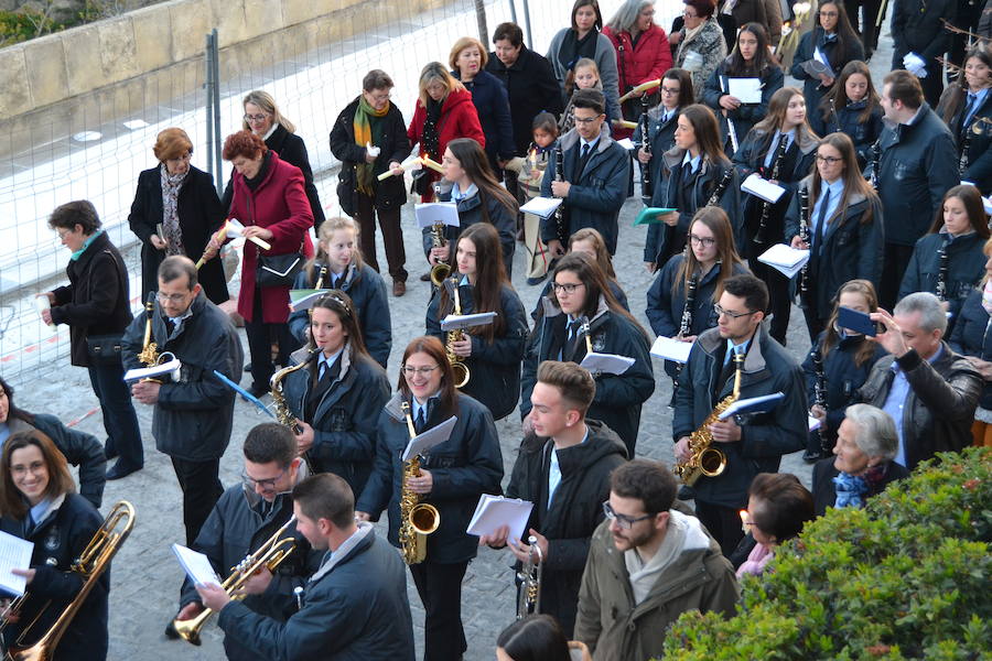
M314 289L323 266L314 263L312 274L302 269L296 274L293 289ZM321 288L332 289L332 278L334 274L328 269ZM358 313L358 325L362 327L365 348L376 362L385 368L389 361L389 351L392 350L392 319L389 314L389 299L386 296L386 281L368 264L364 263L358 269L352 263L348 264L345 281L338 284L337 289L352 299L355 312ZM293 337L300 340L300 344L306 344L310 312L306 310L291 312L289 325Z

